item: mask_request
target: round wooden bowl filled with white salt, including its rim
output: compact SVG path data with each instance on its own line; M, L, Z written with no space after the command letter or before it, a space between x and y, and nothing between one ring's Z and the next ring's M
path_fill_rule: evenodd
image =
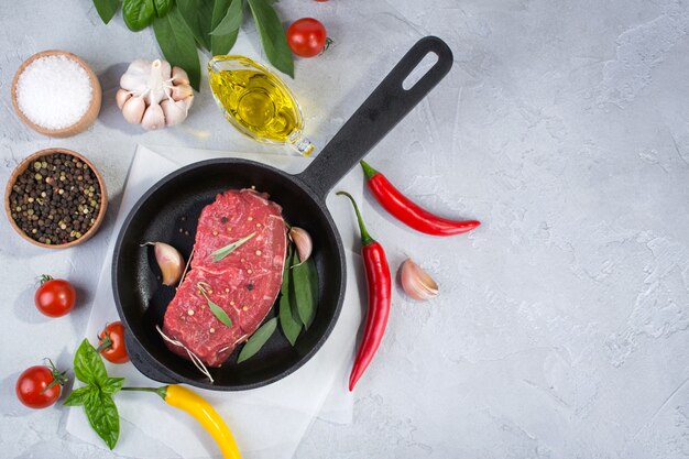
M34 131L68 138L85 131L100 111L98 77L78 56L59 50L29 57L12 79L12 106Z

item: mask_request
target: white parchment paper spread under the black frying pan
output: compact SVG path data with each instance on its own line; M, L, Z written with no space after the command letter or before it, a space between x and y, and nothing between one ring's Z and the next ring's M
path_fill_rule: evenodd
M85 330L95 337L107 321L118 319L114 308L110 266L117 233L136 200L156 181L182 165L218 156L244 157L260 161L287 172L299 172L309 160L288 155L228 153L184 147L139 146L134 155L127 186L110 240L107 258L94 296L92 313ZM338 185L361 200L362 179L351 172ZM348 266L348 287L340 318L331 336L305 365L289 376L265 387L238 393L197 390L222 415L234 434L242 456L250 459L291 458L315 417L336 423L351 422L352 397L347 392L354 339L361 323L361 273L359 255L350 249L358 229L350 204L332 194L328 207L342 236ZM131 364L113 365L111 375L125 376L127 385L158 386ZM116 395L121 418L120 439L116 450L120 455L146 459L185 459L216 457L219 451L212 439L196 422L183 412L147 393ZM92 431L81 409L72 409L67 430L85 441L106 447Z

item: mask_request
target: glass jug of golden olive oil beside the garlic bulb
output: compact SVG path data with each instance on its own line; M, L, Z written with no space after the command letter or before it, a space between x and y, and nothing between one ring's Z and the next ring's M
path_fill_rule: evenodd
M304 118L284 81L244 56L215 56L208 63L214 98L240 132L265 143L288 144L304 156L314 144L304 136Z

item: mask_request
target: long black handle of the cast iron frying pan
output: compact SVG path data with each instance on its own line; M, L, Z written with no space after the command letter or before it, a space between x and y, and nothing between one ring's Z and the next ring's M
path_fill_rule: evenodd
M403 81L426 55L438 61L409 89ZM298 177L322 199L450 72L452 52L437 36L426 36L402 57L371 96Z

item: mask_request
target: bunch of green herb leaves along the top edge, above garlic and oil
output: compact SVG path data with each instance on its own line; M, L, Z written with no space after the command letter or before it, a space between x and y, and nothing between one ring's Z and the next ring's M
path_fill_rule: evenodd
M120 0L94 0L103 23L117 13ZM249 9L251 14L244 14ZM153 25L165 58L184 68L199 89L200 61L196 48L212 55L230 52L244 15L253 18L269 62L294 78L294 58L271 0L123 0L122 17L134 32ZM195 56L192 55L195 54Z

